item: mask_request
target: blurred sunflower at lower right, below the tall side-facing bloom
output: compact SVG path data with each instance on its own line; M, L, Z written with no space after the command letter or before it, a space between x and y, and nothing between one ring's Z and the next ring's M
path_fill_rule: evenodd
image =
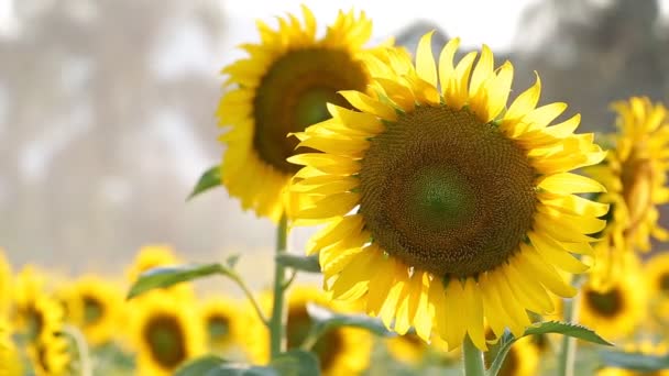
M621 275L605 288L588 281L579 296L579 320L610 340L634 332L646 317L646 297L637 273Z

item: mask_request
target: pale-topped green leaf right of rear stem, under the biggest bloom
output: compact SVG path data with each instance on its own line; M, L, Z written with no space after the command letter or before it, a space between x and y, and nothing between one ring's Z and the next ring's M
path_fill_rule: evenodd
M362 328L381 336L396 335L394 332L388 331L380 319L371 318L366 314L337 313L314 303L307 305L307 313L314 320L314 328L311 330L318 336L339 327Z

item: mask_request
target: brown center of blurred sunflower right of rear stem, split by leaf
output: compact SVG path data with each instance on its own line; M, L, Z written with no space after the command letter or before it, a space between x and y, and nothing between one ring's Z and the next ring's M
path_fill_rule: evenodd
M288 310L286 328L288 349L299 347L311 329L311 319L305 306L294 307ZM331 330L322 335L311 349L320 361L321 371L330 369L334 364L334 360L337 360L343 350L343 339L341 335L340 331Z

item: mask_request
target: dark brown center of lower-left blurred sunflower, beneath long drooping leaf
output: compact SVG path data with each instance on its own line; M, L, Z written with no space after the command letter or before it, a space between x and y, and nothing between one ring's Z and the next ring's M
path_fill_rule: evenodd
M177 318L156 316L144 327L152 358L165 369L174 369L186 360L186 338Z

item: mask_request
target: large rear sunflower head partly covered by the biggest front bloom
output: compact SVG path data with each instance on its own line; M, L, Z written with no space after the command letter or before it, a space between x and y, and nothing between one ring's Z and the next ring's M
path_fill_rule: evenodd
M297 172L286 162L297 142L290 132L330 118L326 103L348 106L339 90L364 90L370 77L361 63L372 33L364 13L340 12L326 35L316 37L316 20L303 7L304 25L293 14L278 18L274 31L257 21L260 44L244 44L248 58L222 71L226 86L235 87L221 99L219 124L231 126L220 137L228 146L222 183L244 209L278 220L287 209L284 188Z

